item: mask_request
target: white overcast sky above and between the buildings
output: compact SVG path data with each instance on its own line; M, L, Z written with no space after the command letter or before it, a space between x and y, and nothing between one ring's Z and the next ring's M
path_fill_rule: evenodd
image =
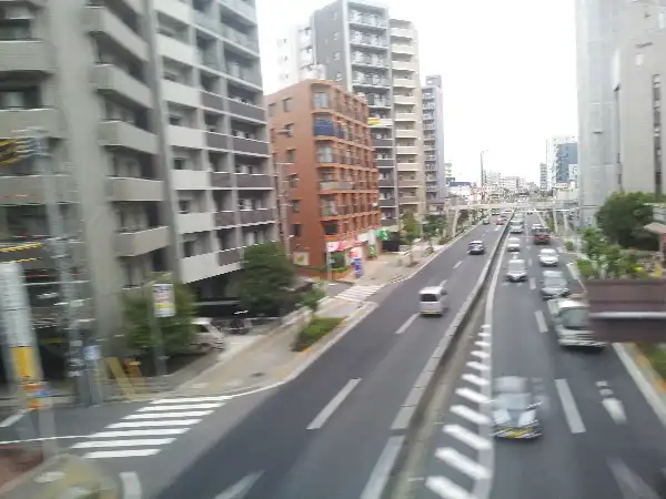
M266 91L276 40L331 0L256 0ZM421 79L444 78L445 149L458 180L478 181L480 152L503 174L538 179L551 135L576 134L574 0L385 0L416 24Z

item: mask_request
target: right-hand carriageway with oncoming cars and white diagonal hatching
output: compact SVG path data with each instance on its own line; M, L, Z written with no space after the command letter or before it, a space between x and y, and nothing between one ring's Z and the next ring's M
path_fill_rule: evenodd
M536 222L527 217L527 226ZM579 293L566 266L573 256L561 242L553 245L572 291ZM522 284L504 279L511 256L502 255L485 327L470 353L470 361L483 367L467 364L442 408L445 425L431 442L420 499L657 498L657 473L666 465L664 426L613 346L602 353L558 346L539 295L539 248L523 237L529 279ZM535 383L543 399L543 438L490 437L490 387L504 375Z

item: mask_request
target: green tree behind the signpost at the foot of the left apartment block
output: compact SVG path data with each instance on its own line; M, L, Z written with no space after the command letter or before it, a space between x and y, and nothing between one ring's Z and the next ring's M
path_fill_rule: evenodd
M158 279L158 283L170 283L169 279ZM152 289L131 296L125 295L124 318L127 326L125 340L130 348L148 353L157 347L151 329L151 322L157 320L165 355L184 352L192 340L194 329L192 319L195 316L194 296L190 288L182 283L173 284L175 315L173 317L153 318Z

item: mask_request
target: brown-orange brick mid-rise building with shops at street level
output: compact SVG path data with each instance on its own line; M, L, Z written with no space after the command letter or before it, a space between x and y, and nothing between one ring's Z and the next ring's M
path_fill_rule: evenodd
M269 95L268 104L294 263L304 274L326 275L326 252L336 274L349 272L354 256L374 257L381 215L367 103L335 82L306 80Z

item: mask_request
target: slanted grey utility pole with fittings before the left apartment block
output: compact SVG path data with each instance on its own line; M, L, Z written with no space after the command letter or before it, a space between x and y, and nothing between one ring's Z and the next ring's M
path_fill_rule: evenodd
M47 218L49 225L49 240L47 247L56 261L60 281L60 294L64 303L64 315L69 339L69 370L77 384L77 395L81 405L99 404L99 391L93 389L91 371L87 366L83 355L83 338L79 330L79 318L75 307L80 305L77 299L77 289L73 283L70 251L71 241L65 231L64 221L53 185L54 172L49 153L48 138L42 130L31 129L27 132L28 154L32 157L33 165L42 177Z

